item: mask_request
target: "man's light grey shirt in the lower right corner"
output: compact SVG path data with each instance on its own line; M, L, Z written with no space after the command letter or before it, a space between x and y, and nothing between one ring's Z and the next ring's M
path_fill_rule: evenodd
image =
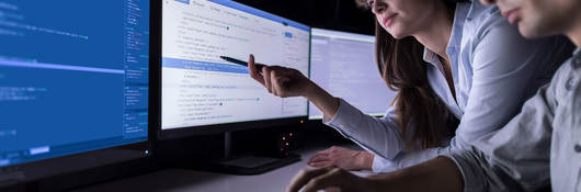
M526 101L506 126L471 150L446 155L464 176L465 191L581 192L581 53L550 84Z

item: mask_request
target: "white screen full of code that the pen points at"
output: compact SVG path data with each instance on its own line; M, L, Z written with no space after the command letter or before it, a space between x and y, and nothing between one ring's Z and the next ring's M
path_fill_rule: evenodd
M162 7L161 127L307 116L304 98L270 94L228 56L309 68L304 24L230 0L168 0Z

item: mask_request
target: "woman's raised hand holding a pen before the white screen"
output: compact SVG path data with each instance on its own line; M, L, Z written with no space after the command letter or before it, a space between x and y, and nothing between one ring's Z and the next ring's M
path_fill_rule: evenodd
M257 71L255 66L261 65L262 74ZM265 66L254 63L254 56L250 55L248 60L250 77L259 81L270 93L281 97L306 97L312 82L300 71L281 66Z

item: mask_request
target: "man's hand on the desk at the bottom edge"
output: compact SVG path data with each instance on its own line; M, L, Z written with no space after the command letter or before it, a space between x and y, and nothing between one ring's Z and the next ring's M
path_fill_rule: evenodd
M317 192L318 190L360 192L374 191L376 183L372 179L361 178L338 167L300 170L290 181L287 192Z

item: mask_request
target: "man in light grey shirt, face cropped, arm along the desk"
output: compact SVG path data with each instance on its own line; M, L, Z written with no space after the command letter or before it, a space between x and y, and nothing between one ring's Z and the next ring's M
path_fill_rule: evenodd
M495 3L525 37L567 35L581 47L581 0L481 0ZM360 178L329 167L299 172L288 191L581 192L581 53L566 61L510 123L471 150Z

